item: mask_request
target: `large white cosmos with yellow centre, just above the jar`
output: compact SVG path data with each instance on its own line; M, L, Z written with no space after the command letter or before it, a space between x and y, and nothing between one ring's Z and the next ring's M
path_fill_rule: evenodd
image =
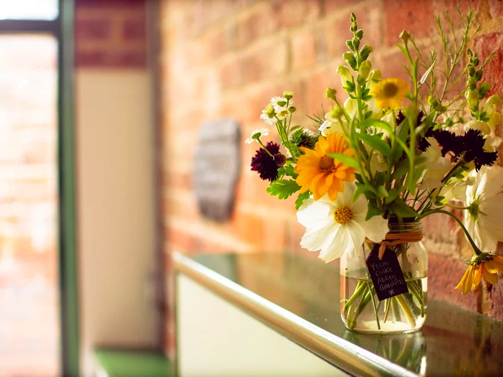
M317 201L307 199L297 211L297 220L306 227L300 246L319 250L319 258L326 263L345 252L356 255L365 237L380 242L388 232L388 221L381 216L365 220L368 203L363 195L353 203L355 190L355 183L344 182L336 201L326 195Z

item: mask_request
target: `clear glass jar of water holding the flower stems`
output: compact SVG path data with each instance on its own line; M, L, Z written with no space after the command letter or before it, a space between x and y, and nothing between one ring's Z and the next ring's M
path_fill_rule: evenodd
M422 232L421 222L390 223L389 234ZM426 320L428 252L421 241L388 246L395 251L408 293L379 301L365 263L372 243L341 257L341 317L347 328L366 333L406 333Z

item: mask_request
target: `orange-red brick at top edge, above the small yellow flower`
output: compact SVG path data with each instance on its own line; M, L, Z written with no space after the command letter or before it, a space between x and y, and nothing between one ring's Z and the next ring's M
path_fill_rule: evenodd
M384 0L386 45L400 44L404 29L415 39L433 35L433 10L432 0Z

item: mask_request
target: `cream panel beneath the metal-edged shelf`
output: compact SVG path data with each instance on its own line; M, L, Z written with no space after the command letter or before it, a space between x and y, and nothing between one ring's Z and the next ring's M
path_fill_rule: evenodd
M348 375L183 274L177 319L180 377Z

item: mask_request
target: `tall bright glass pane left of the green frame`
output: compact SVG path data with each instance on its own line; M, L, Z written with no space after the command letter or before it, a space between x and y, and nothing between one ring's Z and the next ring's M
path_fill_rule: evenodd
M0 34L0 56L0 375L56 376L57 42Z

